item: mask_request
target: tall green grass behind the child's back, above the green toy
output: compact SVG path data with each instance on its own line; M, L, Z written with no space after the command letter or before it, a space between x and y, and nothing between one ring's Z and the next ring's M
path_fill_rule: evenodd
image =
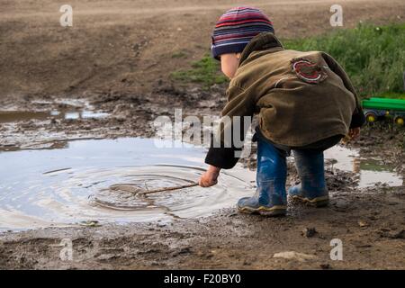
M284 40L286 49L322 50L345 68L360 96L405 98L405 24L359 24L318 37Z

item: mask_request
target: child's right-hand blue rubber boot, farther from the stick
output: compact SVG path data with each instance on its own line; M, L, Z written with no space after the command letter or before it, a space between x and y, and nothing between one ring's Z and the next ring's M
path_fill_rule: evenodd
M323 150L293 150L293 155L301 184L291 187L288 190L289 195L317 207L328 205Z

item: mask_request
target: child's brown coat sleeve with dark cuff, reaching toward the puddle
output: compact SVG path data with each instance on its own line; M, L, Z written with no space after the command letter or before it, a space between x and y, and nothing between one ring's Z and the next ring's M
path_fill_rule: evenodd
M211 147L205 157L205 163L224 169L230 169L237 164L238 153L243 147L235 143L234 133L238 131L236 137L243 142L247 133L245 117L250 117L251 120L256 106L254 97L238 85L229 86L227 96L228 103L221 112L219 129L214 131Z

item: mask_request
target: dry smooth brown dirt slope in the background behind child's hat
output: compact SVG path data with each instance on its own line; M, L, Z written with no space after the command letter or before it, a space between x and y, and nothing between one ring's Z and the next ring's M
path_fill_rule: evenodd
M73 27L59 24L60 4L1 0L0 87L2 95L69 96L145 94L174 67L209 52L211 30L237 1L69 1ZM242 2L243 3L243 2ZM336 1L247 1L262 8L280 38L303 37L334 28ZM240 4L240 3L239 3ZM401 0L342 2L344 27L359 21L403 22ZM183 52L184 58L173 58Z

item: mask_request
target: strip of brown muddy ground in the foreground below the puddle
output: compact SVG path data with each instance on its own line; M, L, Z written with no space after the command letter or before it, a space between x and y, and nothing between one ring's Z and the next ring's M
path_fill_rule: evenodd
M0 238L5 269L404 269L402 188L331 193L329 208L289 204L289 216L263 218L220 211L199 220L80 229L40 229ZM309 232L310 231L310 232ZM61 261L63 238L73 260ZM330 240L343 261L330 260ZM310 257L273 257L295 251Z

